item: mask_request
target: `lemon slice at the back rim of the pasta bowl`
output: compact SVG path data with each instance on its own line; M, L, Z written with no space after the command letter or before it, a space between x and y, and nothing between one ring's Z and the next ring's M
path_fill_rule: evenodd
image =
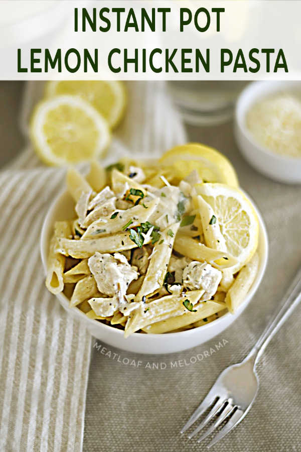
M176 175L184 179L196 169L204 182L219 182L238 187L236 172L220 152L198 143L177 146L166 152L160 162L171 165Z

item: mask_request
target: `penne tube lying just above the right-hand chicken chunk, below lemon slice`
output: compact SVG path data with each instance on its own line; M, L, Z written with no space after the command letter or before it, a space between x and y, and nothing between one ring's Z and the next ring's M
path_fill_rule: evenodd
M200 261L208 262L212 267L222 270L224 268L233 267L237 264L237 259L224 251L213 250L206 247L202 243L197 242L191 237L177 235L174 249L188 258Z

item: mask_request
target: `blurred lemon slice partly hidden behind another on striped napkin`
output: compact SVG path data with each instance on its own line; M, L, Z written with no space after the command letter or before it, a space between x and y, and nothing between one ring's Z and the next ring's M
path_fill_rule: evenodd
M51 80L46 84L45 94L79 95L99 111L112 129L121 121L126 106L124 84L114 80Z

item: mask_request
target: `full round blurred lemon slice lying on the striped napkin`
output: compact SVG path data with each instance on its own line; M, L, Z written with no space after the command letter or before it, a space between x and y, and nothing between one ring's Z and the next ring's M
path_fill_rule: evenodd
M85 100L55 96L35 108L30 135L41 159L62 166L101 155L110 142L107 122Z

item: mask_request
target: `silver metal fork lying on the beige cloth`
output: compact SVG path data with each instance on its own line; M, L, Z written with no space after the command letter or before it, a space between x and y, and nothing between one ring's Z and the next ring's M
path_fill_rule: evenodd
M207 445L210 448L242 421L251 408L259 388L259 380L255 370L256 364L271 338L283 325L300 300L301 269L299 269L289 286L280 304L280 309L276 311L276 314L272 317L247 357L241 363L228 367L220 374L203 402L181 430L181 433L188 430L205 411L211 408L205 419L188 435L189 438L192 438L211 421L214 421L198 439L198 442L201 442L221 424L224 424Z

